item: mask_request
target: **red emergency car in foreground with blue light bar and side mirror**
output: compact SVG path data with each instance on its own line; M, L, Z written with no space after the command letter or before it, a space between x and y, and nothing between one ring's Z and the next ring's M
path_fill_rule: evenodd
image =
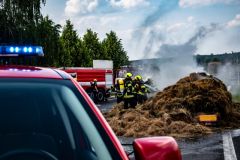
M26 51L0 54L7 49ZM0 104L1 160L129 159L88 94L61 70L0 66ZM137 160L181 160L171 137L136 139L133 148Z

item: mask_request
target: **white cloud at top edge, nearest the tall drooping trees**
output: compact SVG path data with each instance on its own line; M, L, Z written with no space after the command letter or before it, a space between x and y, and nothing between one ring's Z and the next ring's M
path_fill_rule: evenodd
M74 16L92 12L98 6L98 0L68 0L66 2L65 14Z

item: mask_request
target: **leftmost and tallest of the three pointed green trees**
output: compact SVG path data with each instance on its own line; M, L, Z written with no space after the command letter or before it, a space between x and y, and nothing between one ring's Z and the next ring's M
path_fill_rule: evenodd
M63 53L61 54L61 64L63 66L79 66L77 61L79 57L78 48L78 35L74 30L73 24L70 20L66 21L66 25L63 27L62 36L60 37L63 47Z

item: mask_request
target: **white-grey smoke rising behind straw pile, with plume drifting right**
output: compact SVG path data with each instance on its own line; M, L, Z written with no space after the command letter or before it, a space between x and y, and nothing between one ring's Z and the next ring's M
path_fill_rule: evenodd
M153 79L155 85L159 89L163 89L192 72L203 72L203 67L197 66L194 59L198 43L210 33L220 29L221 27L217 24L199 27L195 34L186 42L180 44L166 43L163 33L158 30L151 30L149 32L151 37L145 45L144 51L146 54L144 58L148 58L148 56L154 54L156 57L160 57L160 59L154 62L146 60L146 64L143 64L144 67L140 71L140 74L143 77ZM156 47L157 44L158 46ZM154 53L149 54L149 51Z

